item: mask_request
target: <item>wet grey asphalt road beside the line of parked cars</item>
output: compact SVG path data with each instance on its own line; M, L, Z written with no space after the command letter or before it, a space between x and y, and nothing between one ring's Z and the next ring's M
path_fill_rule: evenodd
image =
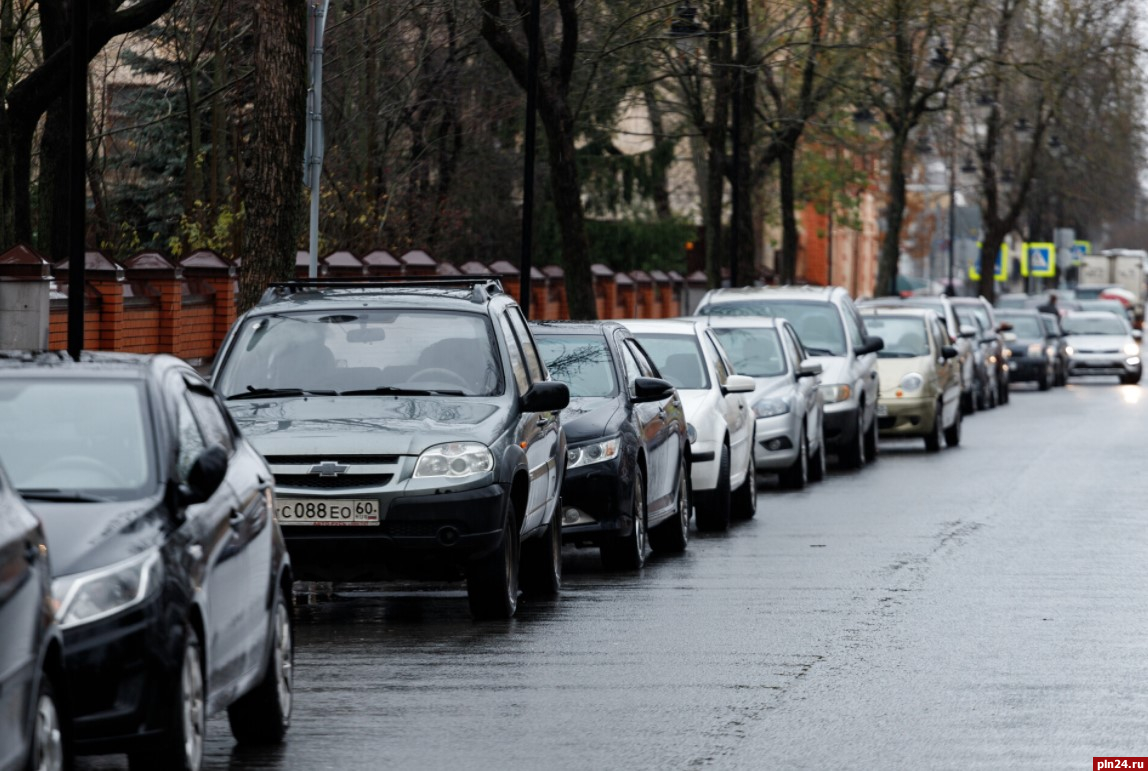
M1148 754L1148 388L1014 388L684 556L474 623L452 586L297 610L288 742L208 769L1086 769ZM381 590L387 591L381 591Z

